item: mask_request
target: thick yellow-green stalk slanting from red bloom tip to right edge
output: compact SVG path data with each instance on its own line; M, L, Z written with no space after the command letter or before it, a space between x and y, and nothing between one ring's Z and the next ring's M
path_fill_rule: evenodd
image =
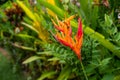
M85 26L85 25L83 25L83 26ZM120 58L120 50L117 49L117 47L115 45L113 45L111 42L109 42L107 39L105 39L102 34L95 32L90 27L84 27L84 32L85 32L85 34L89 35L91 38L99 41L104 47L109 49L111 52L114 53L114 55L116 55Z

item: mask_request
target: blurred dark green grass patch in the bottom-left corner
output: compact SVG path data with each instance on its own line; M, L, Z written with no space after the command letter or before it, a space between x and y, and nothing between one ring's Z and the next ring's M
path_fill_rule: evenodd
M2 49L0 49L2 51ZM4 50L3 50L4 51ZM2 53L0 52L0 78L1 80L18 80L24 79L22 77L22 74L19 71L15 71L15 65L12 64L8 58L5 56L1 55ZM4 70L4 71L3 71ZM7 76L6 76L7 75ZM19 78L20 77L20 78Z

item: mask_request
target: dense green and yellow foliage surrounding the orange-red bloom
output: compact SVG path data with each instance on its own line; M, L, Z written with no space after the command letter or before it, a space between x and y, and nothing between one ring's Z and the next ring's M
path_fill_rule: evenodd
M0 49L9 53L11 64L7 66L15 66L10 68L24 73L25 80L119 80L120 19L116 17L120 13L119 1L31 1L0 3ZM57 16L64 23L76 14L70 26L75 35L77 19L82 19L81 61L56 40L51 21Z

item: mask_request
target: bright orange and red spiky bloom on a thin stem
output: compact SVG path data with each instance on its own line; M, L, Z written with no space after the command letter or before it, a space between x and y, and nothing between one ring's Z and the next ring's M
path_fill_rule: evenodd
M81 46L83 40L82 22L79 18L78 31L76 35L72 38L72 28L70 25L70 20L72 20L73 18L75 18L75 15L70 16L64 21L60 21L57 19L58 24L56 24L52 20L54 27L57 29L56 35L54 36L61 44L70 47L75 52L78 59L81 60Z

